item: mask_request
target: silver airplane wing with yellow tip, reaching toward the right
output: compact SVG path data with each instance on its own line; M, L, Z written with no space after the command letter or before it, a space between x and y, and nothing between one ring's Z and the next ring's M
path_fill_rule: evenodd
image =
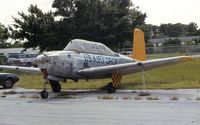
M125 64L109 65L92 67L78 70L78 74L85 77L93 76L111 76L113 73L120 73L121 75L140 72L142 70L151 70L154 68L166 66L169 64L179 63L187 60L192 60L190 56L177 56L171 58L153 59L141 62L132 62Z

